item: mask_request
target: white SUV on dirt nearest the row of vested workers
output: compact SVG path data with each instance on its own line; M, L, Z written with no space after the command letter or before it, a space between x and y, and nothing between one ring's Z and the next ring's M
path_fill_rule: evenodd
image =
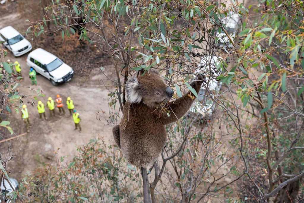
M70 81L74 74L73 68L41 48L29 53L26 64L50 80L54 86L57 86L58 83Z

